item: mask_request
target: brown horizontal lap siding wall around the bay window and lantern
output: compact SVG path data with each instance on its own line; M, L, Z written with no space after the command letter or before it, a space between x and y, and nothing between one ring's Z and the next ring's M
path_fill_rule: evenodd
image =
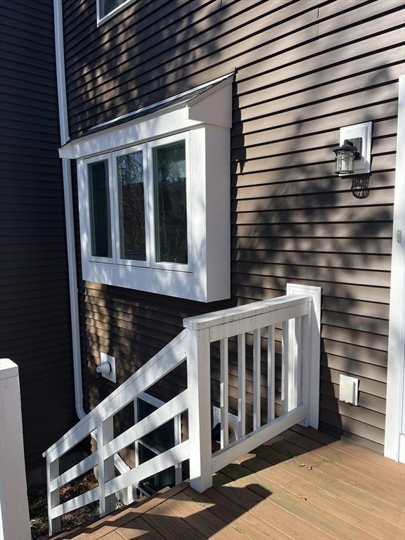
M100 27L95 1L63 6L72 136L236 69L232 298L205 305L82 282L87 406L113 389L96 376L101 350L117 356L121 382L183 317L308 283L323 290L321 428L381 450L403 2L139 0ZM333 174L332 149L340 127L369 120L370 195L359 199ZM340 373L359 378L358 408L338 401ZM215 397L215 365L212 378Z

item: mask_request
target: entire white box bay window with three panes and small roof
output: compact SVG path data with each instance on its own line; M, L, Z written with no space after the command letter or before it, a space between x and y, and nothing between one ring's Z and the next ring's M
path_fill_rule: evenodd
M105 122L60 149L77 159L85 280L229 298L230 83Z

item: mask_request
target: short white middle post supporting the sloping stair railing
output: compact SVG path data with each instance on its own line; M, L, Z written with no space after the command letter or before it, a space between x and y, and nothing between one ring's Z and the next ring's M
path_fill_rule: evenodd
M100 515L115 510L115 495L105 496L105 483L115 477L114 456L104 459L104 445L114 439L113 416L103 420L97 428L98 454L98 493L100 497Z

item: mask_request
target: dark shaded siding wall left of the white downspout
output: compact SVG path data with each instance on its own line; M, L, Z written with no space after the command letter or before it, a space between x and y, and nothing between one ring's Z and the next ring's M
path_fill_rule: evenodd
M27 468L75 422L53 1L0 1L0 356L20 370Z

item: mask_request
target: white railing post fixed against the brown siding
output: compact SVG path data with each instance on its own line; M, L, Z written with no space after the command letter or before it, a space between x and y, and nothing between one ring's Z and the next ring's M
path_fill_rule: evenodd
M308 416L302 425L318 429L319 423L319 379L321 364L321 287L287 283L288 295L312 297L309 313L302 317L301 348L301 402L308 407ZM294 332L294 321L290 321L289 332Z

